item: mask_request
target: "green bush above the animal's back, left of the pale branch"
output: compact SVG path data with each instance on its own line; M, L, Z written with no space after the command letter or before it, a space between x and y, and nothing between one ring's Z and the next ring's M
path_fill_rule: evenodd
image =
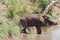
M42 13L49 3L50 3L49 0L38 0L38 1L36 1L33 5L34 6L33 13L34 14L35 13Z

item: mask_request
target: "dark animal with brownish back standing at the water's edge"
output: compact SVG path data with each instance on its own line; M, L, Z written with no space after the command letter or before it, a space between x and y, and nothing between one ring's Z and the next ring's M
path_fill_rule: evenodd
M19 25L20 23L23 26L23 29L21 30L23 33L27 33L26 28L35 26L37 34L41 34L42 26L52 26L57 24L56 22L50 20L48 16L42 16L41 14L23 14Z

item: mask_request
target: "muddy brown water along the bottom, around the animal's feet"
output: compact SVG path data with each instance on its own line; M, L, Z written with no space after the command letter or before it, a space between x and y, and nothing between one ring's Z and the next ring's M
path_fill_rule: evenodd
M12 36L13 40L60 40L60 25L54 27L43 27L42 34L21 33L18 36Z

